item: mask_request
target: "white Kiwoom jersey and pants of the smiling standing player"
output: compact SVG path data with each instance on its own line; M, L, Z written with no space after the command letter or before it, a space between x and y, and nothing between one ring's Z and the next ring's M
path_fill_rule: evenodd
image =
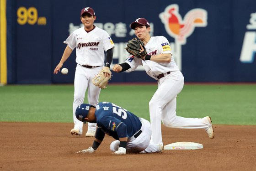
M88 103L96 106L99 102L101 88L92 83L92 79L99 73L104 66L104 51L115 47L107 31L95 27L92 31L85 31L84 27L75 30L64 41L72 50L76 47L77 63L74 80L74 103L73 119L74 129L83 131L83 122L76 119L75 110L79 104L84 103L85 91L88 88ZM87 66L87 67L84 67ZM91 67L91 68L88 68ZM88 130L96 130L96 124L88 123Z

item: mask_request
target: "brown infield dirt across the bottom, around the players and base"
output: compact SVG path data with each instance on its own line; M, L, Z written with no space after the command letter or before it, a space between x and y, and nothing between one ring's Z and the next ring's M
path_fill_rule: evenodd
M162 125L165 145L189 141L203 144L203 149L121 156L109 150L114 139L108 135L94 154L74 154L91 146L94 138L71 135L72 128L72 123L0 122L0 171L256 170L256 126L213 125L215 138L210 140L204 130Z

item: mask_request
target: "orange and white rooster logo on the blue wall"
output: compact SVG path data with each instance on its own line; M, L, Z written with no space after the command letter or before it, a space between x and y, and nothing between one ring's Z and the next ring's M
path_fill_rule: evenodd
M175 38L176 42L185 45L187 37L192 34L195 27L207 26L207 11L195 8L187 12L182 21L177 4L169 5L159 15L165 25L167 33Z

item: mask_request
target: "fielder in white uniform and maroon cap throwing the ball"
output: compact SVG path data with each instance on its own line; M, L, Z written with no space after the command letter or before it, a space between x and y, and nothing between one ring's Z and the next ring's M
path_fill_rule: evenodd
M211 118L183 118L176 115L176 96L184 85L184 77L172 57L170 43L164 36L149 36L150 25L144 18L131 24L135 35L144 42L147 55L143 58L129 56L124 63L115 65L114 72L134 71L143 65L146 73L158 81L158 89L149 102L151 140L162 144L161 121L166 127L204 129L210 139L214 138ZM140 52L144 49L140 45Z

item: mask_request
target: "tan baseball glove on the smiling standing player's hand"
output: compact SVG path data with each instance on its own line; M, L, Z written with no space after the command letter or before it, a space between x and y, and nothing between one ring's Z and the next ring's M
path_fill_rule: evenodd
M105 77L104 73L108 73L109 76ZM95 86L98 86L99 88L107 88L107 83L108 80L110 80L110 78L112 77L110 70L104 70L102 69L93 79L92 79L92 83Z

